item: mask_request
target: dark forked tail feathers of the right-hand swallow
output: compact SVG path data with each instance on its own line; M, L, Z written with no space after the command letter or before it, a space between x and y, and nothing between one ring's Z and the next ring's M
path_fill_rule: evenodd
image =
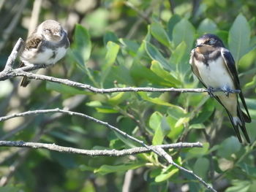
M240 108L239 104L238 104L238 107L237 107L237 117L233 117L230 114L230 112L228 112L228 111L227 111L227 115L230 118L230 121L233 125L233 128L236 132L236 136L238 137L239 142L242 143L241 134L240 134L240 131L239 131L239 128L241 128L241 131L244 134L246 142L250 143L250 139L249 139L249 136L247 134L246 127L245 127L246 120L244 119L244 112L241 111L241 108Z

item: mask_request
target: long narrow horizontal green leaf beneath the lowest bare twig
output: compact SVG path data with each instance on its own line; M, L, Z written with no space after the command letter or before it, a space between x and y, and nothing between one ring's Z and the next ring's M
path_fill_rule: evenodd
M126 172L127 170L130 169L138 169L141 166L144 166L145 164L124 164L124 165L102 165L99 167L99 169L95 169L94 173L99 173L99 174L109 174L113 172Z

